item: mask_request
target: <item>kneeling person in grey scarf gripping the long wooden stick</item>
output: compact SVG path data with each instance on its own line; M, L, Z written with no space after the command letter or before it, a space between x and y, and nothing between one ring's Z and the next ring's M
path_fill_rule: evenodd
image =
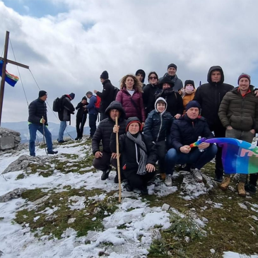
M141 194L148 194L147 183L155 175L155 163L158 160L155 143L148 136L141 134L142 125L138 117L127 120L126 133L119 136L119 153L121 153L121 168L128 184L127 191L135 188ZM110 139L110 150L117 152L116 133L119 126L114 126Z

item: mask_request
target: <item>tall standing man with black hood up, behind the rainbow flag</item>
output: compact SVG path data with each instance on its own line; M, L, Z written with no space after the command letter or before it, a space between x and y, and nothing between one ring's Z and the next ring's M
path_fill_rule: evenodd
M233 86L224 83L224 74L221 66L211 66L207 76L208 83L197 88L194 100L201 105L201 116L206 118L209 128L214 132L215 137L225 137L225 127L218 117L218 108L225 93L233 90ZM222 148L218 147L216 154L215 178L217 182L223 180L223 164L221 160Z

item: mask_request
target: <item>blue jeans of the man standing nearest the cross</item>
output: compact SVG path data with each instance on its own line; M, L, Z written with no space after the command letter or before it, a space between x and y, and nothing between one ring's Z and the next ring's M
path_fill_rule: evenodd
M37 131L40 131L41 134L45 136L46 143L47 143L47 151L53 150L52 134L50 133L49 129L47 129L46 126L44 126L44 131L43 131L43 124L29 124L29 131L30 131L30 145L29 145L30 156L35 156L35 140L36 140Z

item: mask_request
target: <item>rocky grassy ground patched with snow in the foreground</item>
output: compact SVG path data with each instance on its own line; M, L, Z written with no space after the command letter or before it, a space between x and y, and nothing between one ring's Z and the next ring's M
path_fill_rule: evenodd
M218 189L213 163L201 184L176 172L165 187L157 175L144 197L123 183L119 204L115 171L100 180L89 140L56 148L2 153L0 257L258 257L258 198L239 197L236 180Z

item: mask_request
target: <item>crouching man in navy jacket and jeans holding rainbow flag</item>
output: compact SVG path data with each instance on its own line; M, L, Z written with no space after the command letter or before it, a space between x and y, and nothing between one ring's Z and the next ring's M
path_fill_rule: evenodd
M211 161L217 152L217 146L201 143L198 147L189 145L196 142L198 137L212 139L209 126L204 117L199 116L200 105L197 101L190 101L186 106L186 114L174 120L170 130L172 148L165 156L166 178L165 184L172 186L172 174L175 165L191 164L191 172L197 182L202 182L201 168Z

